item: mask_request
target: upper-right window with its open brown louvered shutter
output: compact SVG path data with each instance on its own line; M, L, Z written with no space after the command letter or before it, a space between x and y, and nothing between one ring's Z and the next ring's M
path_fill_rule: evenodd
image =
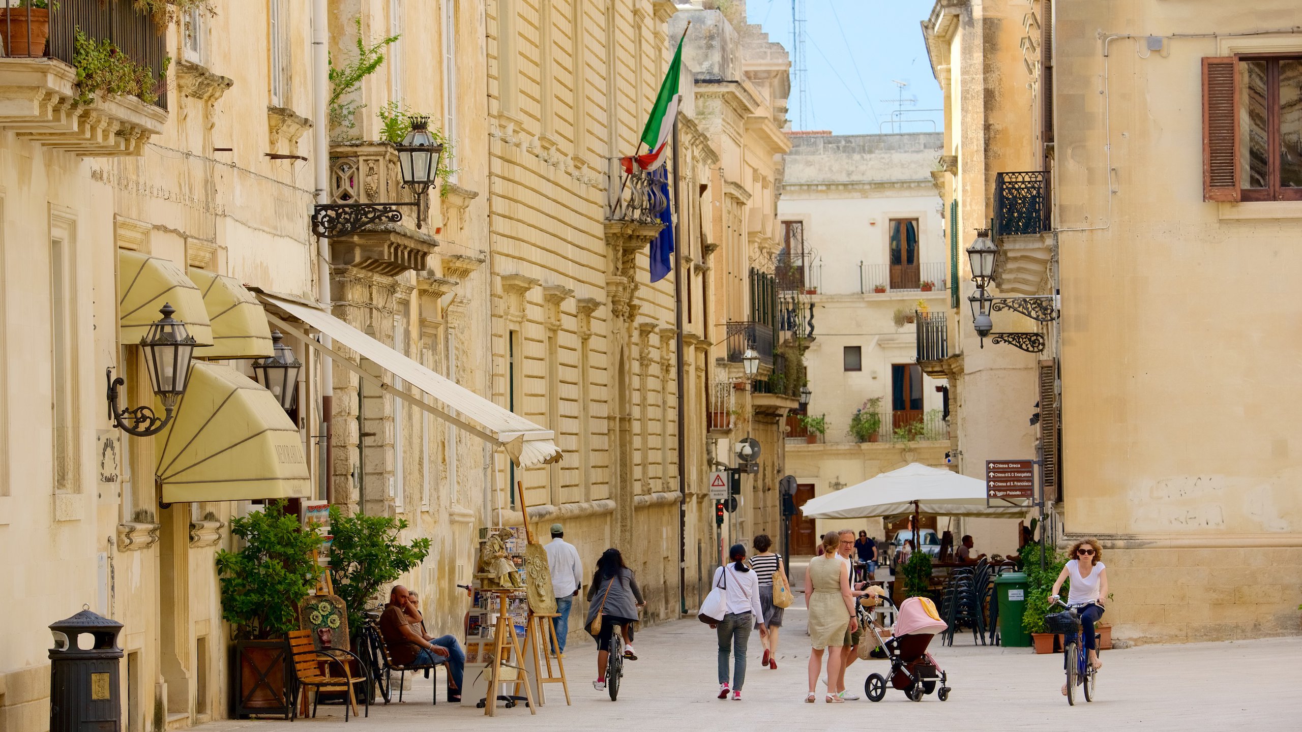
M1203 199L1302 201L1302 55L1203 59Z

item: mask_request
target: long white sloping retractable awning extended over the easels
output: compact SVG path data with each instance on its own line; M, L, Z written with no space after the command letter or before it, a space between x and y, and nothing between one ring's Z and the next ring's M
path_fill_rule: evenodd
M409 395L405 389L395 388L392 384L376 379L361 366L353 363L349 356L323 346L316 339L305 333L301 326L289 323L273 311L268 313L267 317L279 328L296 335L311 348L326 353L336 363L381 388L384 393L402 399L418 409L424 409L495 447L501 447L516 465L533 468L535 465L556 462L561 458L561 451L556 447L556 435L551 430L540 427L456 382L435 374L329 313L267 293L260 293L258 297L275 309L283 310L329 336L337 345L355 350L358 356L374 361L380 369L401 378L404 383L421 389L434 400L441 402L443 406L428 404Z

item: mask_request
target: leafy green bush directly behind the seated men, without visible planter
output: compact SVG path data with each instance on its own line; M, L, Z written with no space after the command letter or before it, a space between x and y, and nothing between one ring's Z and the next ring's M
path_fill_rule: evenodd
M344 516L337 507L329 509L329 570L335 593L348 606L352 637L361 637L362 612L372 603L380 587L419 567L430 554L430 539L402 543L398 534L408 522L389 516Z

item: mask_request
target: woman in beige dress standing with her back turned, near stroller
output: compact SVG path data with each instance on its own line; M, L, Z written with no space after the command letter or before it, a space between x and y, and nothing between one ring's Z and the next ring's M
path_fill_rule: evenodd
M809 604L810 643L810 693L805 701L814 703L818 698L819 672L823 669L823 650L828 651L827 660L827 703L844 703L840 697L845 689L833 689L836 679L841 671L841 646L845 642L846 629L852 633L858 630L858 620L854 616L854 594L850 589L849 565L836 556L836 546L840 542L836 531L828 531L823 537L822 556L810 560L809 569L805 570L805 602Z

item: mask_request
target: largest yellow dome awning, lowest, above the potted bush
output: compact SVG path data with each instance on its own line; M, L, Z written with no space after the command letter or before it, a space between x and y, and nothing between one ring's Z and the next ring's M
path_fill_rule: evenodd
M229 366L190 369L176 415L154 438L159 500L310 498L298 427L276 397Z

